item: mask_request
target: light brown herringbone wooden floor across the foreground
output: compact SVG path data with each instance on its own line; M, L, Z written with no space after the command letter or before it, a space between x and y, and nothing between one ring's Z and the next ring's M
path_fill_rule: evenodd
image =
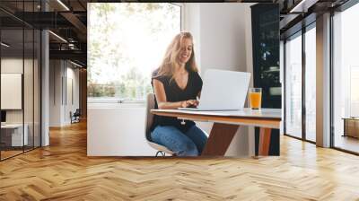
M281 137L259 159L88 158L86 125L0 162L0 200L359 200L359 157Z

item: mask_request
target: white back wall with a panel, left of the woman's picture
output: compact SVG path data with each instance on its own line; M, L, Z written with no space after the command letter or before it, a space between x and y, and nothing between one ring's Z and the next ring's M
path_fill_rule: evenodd
M70 111L79 108L79 70L64 60L50 60L49 66L49 127L62 127L71 123Z

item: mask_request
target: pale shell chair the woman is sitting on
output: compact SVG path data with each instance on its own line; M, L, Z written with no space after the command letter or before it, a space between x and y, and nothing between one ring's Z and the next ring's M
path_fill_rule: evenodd
M153 124L153 114L151 113L151 109L154 109L154 94L149 93L147 94L147 101L146 101L146 121L145 121L145 138L147 140L147 143L150 144L153 149L158 150L156 153L156 156L158 156L159 153L162 154L162 156L165 156L166 153L174 155L175 153L171 152L171 150L167 149L167 147L161 145L161 144L155 144L151 141L151 126Z

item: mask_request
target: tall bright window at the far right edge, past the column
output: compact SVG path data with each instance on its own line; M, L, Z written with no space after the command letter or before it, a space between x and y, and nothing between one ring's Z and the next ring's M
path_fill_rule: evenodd
M359 118L358 19L359 4L333 16L333 142L335 147L355 153L359 153L358 121L349 120L353 125L346 127L344 118ZM345 127L354 132L346 132Z

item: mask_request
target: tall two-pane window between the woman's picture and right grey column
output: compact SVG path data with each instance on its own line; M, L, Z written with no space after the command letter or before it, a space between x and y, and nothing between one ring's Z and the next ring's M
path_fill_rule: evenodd
M285 40L285 86L285 134L314 143L317 86L315 22Z

